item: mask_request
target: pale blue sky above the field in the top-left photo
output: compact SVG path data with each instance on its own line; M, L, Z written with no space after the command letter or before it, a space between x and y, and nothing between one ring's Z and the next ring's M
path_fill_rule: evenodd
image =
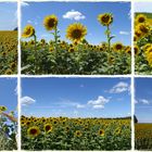
M17 27L17 3L0 2L0 30L13 30Z

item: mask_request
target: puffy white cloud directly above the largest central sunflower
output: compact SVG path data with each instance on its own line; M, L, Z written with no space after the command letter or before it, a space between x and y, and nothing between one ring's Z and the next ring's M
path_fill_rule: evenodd
M63 18L79 21L79 20L85 20L86 16L83 15L83 14L81 14L80 12L78 12L78 11L71 10L71 11L66 12L66 13L63 15Z

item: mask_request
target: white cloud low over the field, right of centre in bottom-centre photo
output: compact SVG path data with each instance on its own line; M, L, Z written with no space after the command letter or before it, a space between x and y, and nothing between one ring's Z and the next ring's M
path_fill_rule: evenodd
M104 109L104 104L109 101L110 99L99 96L97 100L90 100L87 104L91 105L93 109Z

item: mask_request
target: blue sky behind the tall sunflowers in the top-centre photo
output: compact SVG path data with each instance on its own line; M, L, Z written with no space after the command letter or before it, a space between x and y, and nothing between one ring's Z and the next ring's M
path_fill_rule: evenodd
M59 18L61 39L65 39L65 29L69 24L80 22L88 28L86 39L98 45L105 41L105 27L100 25L97 16L106 12L114 14L112 35L116 35L116 38L112 42L122 41L124 45L130 45L129 2L22 2L22 27L31 24L36 28L38 39L50 40L52 36L46 31L42 22L45 16L55 14Z

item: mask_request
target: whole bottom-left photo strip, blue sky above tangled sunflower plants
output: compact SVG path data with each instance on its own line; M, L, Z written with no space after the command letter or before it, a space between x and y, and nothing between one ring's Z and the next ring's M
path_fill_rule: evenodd
M0 151L17 149L16 85L16 78L0 78Z

